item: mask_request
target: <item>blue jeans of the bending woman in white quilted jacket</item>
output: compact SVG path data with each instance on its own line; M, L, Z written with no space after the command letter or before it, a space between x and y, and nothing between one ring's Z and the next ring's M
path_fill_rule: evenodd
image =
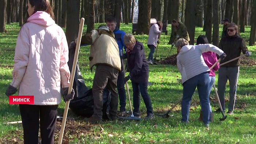
M210 88L209 85L210 85L210 79L209 79L208 72L204 72L199 75L196 75L188 79L185 83L183 83L183 98L181 102L181 115L182 115L181 121L188 122L191 98L197 87L200 103L202 106L203 122L204 124L210 123L211 110L210 110L210 99L209 99L209 88Z

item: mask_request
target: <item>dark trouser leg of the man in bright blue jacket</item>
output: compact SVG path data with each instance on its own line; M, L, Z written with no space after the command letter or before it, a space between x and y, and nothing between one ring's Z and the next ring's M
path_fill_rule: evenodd
M117 91L119 95L120 100L120 111L125 111L125 105L126 105L126 93L124 89L124 70L121 66L121 71L118 73L117 77Z

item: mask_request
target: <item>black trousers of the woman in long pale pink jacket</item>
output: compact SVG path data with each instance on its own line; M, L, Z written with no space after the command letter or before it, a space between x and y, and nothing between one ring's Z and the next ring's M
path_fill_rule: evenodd
M42 144L54 144L57 108L58 105L19 105L24 144L38 143L39 123Z

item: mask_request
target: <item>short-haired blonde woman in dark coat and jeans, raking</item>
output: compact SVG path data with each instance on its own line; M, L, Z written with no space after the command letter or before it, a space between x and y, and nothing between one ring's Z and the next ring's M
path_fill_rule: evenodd
M127 52L121 58L127 58L130 73L124 78L124 83L129 79L132 81L133 91L133 114L136 117L140 117L140 94L147 107L147 117L152 119L154 117L153 108L151 104L150 96L147 92L148 84L148 64L146 55L144 53L144 45L142 42L136 41L132 34L125 34L124 43Z

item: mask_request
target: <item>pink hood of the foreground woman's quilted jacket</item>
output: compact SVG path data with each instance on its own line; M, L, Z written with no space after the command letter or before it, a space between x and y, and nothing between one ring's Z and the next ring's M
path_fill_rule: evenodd
M36 23L47 27L55 23L55 21L50 17L50 15L44 11L35 12L27 19L27 22Z

